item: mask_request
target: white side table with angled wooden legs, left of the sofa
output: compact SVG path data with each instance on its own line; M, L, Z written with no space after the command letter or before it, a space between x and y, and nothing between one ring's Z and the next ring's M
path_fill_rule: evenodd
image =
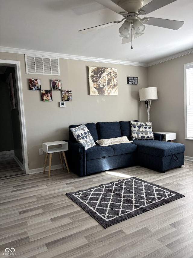
M62 169L64 169L63 161L62 161L62 154L63 154L64 160L65 160L65 163L66 163L66 168L68 170L68 173L70 173L69 168L68 168L68 163L67 163L67 160L66 160L66 155L65 155L65 151L68 150L68 142L64 142L64 141L43 142L42 143L42 148L43 148L43 151L46 152L46 159L45 159L45 163L44 163L43 174L45 173L46 163L47 163L48 154L49 154L48 178L50 177L52 153L54 153L54 152L59 152L59 154L60 154L60 161L61 161L61 164L62 164ZM62 154L61 154L61 152L62 152Z

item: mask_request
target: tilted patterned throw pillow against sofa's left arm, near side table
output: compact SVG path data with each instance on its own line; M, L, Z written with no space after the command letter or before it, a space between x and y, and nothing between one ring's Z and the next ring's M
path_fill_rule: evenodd
M86 150L96 145L89 129L84 124L75 128L70 128L70 130L76 141L84 145Z

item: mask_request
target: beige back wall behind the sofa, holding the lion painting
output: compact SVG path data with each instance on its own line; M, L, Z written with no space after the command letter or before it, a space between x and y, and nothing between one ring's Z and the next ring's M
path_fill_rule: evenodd
M42 168L44 155L39 155L42 142L68 139L68 126L99 121L129 121L147 116L145 105L140 111L139 89L147 87L147 67L60 59L60 76L26 74L23 54L0 52L0 59L18 60L21 66L24 115L27 134L29 169ZM112 67L118 71L118 95L89 95L87 66ZM138 77L138 85L128 85L127 77ZM42 102L40 92L29 90L28 79L41 79L42 90L50 90L50 79L61 79L63 90L72 90L71 102L59 108L60 91L52 92L52 102ZM144 104L144 103L143 103ZM145 117L146 120L146 117ZM52 165L60 164L58 153Z

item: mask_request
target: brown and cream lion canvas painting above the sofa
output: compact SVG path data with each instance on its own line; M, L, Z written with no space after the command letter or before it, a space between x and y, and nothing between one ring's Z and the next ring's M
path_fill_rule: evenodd
M117 95L117 69L88 67L90 95Z

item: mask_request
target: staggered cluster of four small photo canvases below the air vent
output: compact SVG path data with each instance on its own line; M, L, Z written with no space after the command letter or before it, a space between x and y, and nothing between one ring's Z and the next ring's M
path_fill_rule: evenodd
M52 92L55 90L61 91L62 101L72 101L72 91L62 90L62 81L60 79L50 80L51 90L42 90L40 79L28 79L28 81L29 81L29 90L40 90L42 101L53 101Z

